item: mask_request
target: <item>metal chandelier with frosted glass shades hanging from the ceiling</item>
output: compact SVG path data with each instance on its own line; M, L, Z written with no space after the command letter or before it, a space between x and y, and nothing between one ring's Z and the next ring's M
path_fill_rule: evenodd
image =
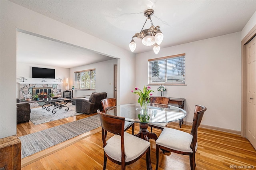
M133 52L136 49L136 43L134 42L134 38L140 38L143 45L151 46L154 45L153 50L154 53L158 54L160 51L160 43L162 43L164 34L160 31L160 26L154 26L151 20L151 16L154 14L154 10L148 9L144 12L144 16L147 17L140 33L136 33L132 37L132 41L129 44L130 50ZM150 20L150 28L143 30L147 20Z

